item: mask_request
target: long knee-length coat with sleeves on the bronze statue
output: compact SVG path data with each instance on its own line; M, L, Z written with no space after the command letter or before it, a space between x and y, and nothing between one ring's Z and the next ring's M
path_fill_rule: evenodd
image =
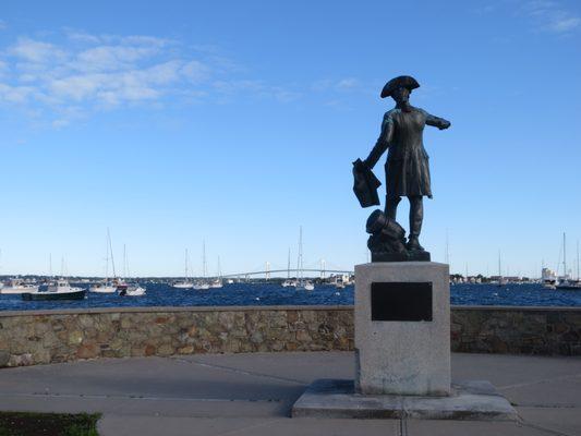
M441 128L446 120L431 116L425 110L411 107L410 111L391 109L384 116L382 134L365 164L373 168L386 149L386 189L388 197L428 196L429 157L424 148L424 126Z

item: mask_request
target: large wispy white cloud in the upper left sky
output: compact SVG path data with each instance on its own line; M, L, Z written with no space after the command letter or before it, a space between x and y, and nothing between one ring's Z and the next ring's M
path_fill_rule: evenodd
M166 98L220 100L239 94L288 102L300 94L245 73L218 49L186 48L144 35L20 37L0 46L0 104L25 106L27 113L64 128L92 112L123 106L159 107ZM348 87L349 83L341 86Z

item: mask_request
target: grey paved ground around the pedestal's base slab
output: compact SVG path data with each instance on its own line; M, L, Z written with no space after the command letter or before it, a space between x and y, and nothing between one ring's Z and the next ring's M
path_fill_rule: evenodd
M350 352L96 360L0 370L0 410L101 412L101 436L581 435L581 359L452 354L452 379L486 379L518 422L290 417L318 378L352 378Z

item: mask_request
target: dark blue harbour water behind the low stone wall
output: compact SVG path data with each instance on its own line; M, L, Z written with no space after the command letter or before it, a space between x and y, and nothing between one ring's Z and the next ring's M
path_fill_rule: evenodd
M353 287L336 289L316 286L314 291L282 288L280 284L233 283L206 291L173 289L144 283L144 296L119 296L87 292L80 301L23 301L21 295L0 295L0 311L38 308L126 307L126 306L241 306L241 305L350 305ZM456 284L450 287L456 305L581 306L581 291L544 289L538 284Z

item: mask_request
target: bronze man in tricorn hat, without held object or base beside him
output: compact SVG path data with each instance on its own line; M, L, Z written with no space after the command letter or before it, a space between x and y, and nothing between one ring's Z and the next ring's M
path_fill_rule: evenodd
M401 197L408 197L410 229L406 247L410 252L424 251L419 240L424 219L423 197L432 198L428 156L423 143L424 126L434 125L439 130L450 126L449 121L410 105L410 94L420 84L415 78L407 75L392 78L384 86L382 98L391 97L396 100L396 107L385 113L379 138L364 160L364 164L373 169L382 155L389 149L385 166L385 215L396 220Z

